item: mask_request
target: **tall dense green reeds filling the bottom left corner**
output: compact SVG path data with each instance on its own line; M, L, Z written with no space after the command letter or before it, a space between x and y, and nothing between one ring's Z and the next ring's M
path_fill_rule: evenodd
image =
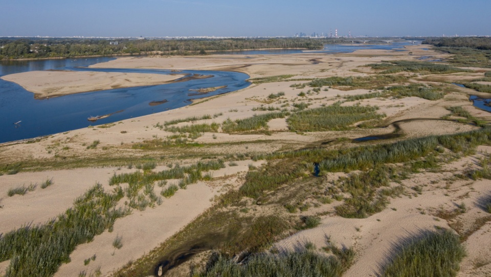
M44 224L28 224L0 237L0 262L10 260L6 276L52 276L79 244L111 228L130 213L115 209L122 195L106 193L97 184L74 206Z

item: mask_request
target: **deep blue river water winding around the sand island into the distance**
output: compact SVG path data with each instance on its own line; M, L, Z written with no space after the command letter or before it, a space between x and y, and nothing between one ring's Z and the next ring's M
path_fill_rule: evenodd
M419 43L419 42L418 42ZM359 49L400 50L410 42L391 44L325 45L323 50L310 53L348 53ZM305 53L298 49L226 51L222 54L295 54ZM215 53L220 54L220 53ZM51 59L29 61L0 61L0 77L8 74L35 70L75 70L127 73L172 74L170 70L157 69L96 69L87 68L95 63L106 62L114 57ZM183 82L78 93L49 99L34 99L34 94L18 84L0 79L0 143L28 139L75 130L88 125L117 122L152 113L180 108L198 99L246 88L249 76L238 72L183 70L180 74L213 75L211 78ZM227 86L206 94L190 90ZM155 101L160 101L154 105ZM90 122L90 116L109 117ZM164 119L165 120L165 119ZM20 121L20 122L19 122ZM18 122L18 124L14 124Z

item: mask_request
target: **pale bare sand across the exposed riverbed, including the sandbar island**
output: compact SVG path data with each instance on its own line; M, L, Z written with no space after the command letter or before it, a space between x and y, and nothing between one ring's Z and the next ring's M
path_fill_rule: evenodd
M290 107L294 103L308 102L308 108L330 105L344 96L366 94L370 90L329 88L318 93L299 96L301 91L311 88L297 89L291 86L299 81L294 79L322 78L329 76L368 76L374 71L364 67L369 63L383 60L418 60L421 56L445 58L448 54L423 50L426 46L408 46L405 51L360 50L349 54L289 54L289 55L209 55L199 57L123 57L99 63L94 68L157 68L157 69L196 69L196 70L229 70L247 73L251 78L289 75L285 80L274 82L253 83L250 87L216 97L194 102L180 109L151 114L139 118L131 118L105 126L73 130L63 134L31 140L29 143L9 142L0 145L0 164L14 165L27 163L25 170L0 176L0 233L24 226L46 222L64 210L70 208L73 201L85 193L87 189L100 183L107 191L114 189L109 186L109 179L115 174L143 172L130 164L136 160L144 162L151 159L157 163L153 172L169 169L172 164L195 164L207 159L225 159L225 168L212 171L211 180L199 181L188 185L187 189L179 189L174 196L163 198L161 205L147 207L145 210L133 209L131 215L116 220L114 229L105 230L93 241L78 245L70 255L71 261L62 264L55 276L77 276L80 272L100 272L111 275L125 265L137 261L141 257L155 254L154 249L165 243L173 235L182 231L200 215L217 205L216 199L230 189L237 189L244 183L245 174L251 168L265 164L264 160L253 161L253 155L277 151L298 150L308 147L353 147L360 144L351 139L373 135L384 135L399 132L399 139L418 138L430 135L454 134L479 129L478 126L447 120L442 117L450 114L449 106L462 106L462 109L482 120L491 120L491 114L474 108L468 101L468 95L474 91L457 87L449 82L453 80L470 80L483 75L480 73L454 73L447 75L417 76L412 83L433 83L442 86L446 94L439 100L426 100L419 97L403 98L370 98L359 101L344 102L342 105L376 105L383 113L384 127L354 128L348 131L324 132L290 132L285 118L277 118L268 122L269 131L227 134L218 129L217 132L204 132L199 137L188 140L196 147L149 147L142 145L151 141L163 141L175 135L165 131L161 126L166 121L187 117L203 117L180 122L174 126L192 124L222 123L225 120L236 120L251 117L254 114L266 114L261 108ZM409 53L411 52L411 54ZM178 74L178 73L177 73ZM412 73L400 73L412 75ZM157 74L123 74L94 72L30 72L4 76L6 80L20 83L27 90L38 94L38 97L62 95L74 91L94 91L124 86L142 86L172 81L179 75L167 76ZM423 78L424 77L424 78ZM42 80L42 81L41 81ZM270 94L284 93L280 98L272 100ZM87 147L94 141L97 147ZM395 140L389 140L394 142ZM370 143L370 142L368 142ZM238 154L248 154L239 158ZM491 219L473 229L478 220L487 219L487 214L479 205L482 197L491 194L489 180L457 180L454 174L464 173L468 168L475 168L482 157L491 153L491 147L479 146L476 153L456 158L442 166L438 172L422 171L412 174L401 181L408 192L394 199L383 211L364 219L348 219L336 216L334 207L339 201L313 206L301 214L291 215L283 205L268 208L247 200L245 205L250 211L247 215L264 215L268 212L285 215L320 215L318 227L303 231L295 231L284 236L274 245L281 249L297 249L306 241L313 242L316 248L325 246L326 236L338 246L353 247L356 252L355 262L344 276L378 276L383 265L393 254L393 247L398 241L413 236L422 230L436 228L452 228L463 226L463 229L474 230L463 242L467 256L461 263L458 276L485 276L491 272ZM110 159L109 159L110 158ZM75 162L76 161L76 162ZM330 173L324 178L326 182L335 180L344 174ZM52 179L53 184L41 189L39 184ZM160 192L178 180L169 180L165 186L155 185L155 192ZM38 184L33 191L25 195L8 196L9 189L17 186ZM122 184L125 186L127 184ZM399 185L391 183L391 186ZM421 187L417 194L412 187ZM127 199L126 199L127 200ZM310 199L314 201L313 199ZM438 218L436 211L452 210L456 205L465 203L467 211L450 221ZM120 203L121 204L121 203ZM233 207L230 207L233 208ZM242 208L242 207L241 207ZM225 209L225 208L224 208ZM240 212L239 212L240 214ZM458 224L457 224L458 223ZM456 225L457 224L457 225ZM113 247L117 236L122 237L123 246ZM301 248L301 247L300 247ZM84 264L87 258L96 255L96 259ZM152 256L153 257L153 256ZM155 256L157 257L157 256ZM157 263L158 260L155 260ZM479 263L478 263L479 262ZM5 272L9 261L0 263L0 274ZM478 264L478 266L476 265ZM189 275L189 264L173 269L176 276Z

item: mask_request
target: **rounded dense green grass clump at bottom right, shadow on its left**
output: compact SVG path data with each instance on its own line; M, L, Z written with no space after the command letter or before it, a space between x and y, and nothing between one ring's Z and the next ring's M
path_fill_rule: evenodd
M449 230L429 233L400 247L382 276L456 276L465 257L459 237Z

